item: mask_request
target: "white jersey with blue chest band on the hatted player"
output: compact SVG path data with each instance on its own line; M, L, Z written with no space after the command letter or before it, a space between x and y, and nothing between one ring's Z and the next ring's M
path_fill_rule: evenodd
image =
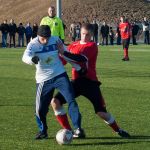
M46 45L42 45L37 37L28 44L23 54L22 61L30 65L33 64L32 57L38 56L40 59L35 65L37 83L47 81L65 72L56 45L58 40L58 37L52 36Z

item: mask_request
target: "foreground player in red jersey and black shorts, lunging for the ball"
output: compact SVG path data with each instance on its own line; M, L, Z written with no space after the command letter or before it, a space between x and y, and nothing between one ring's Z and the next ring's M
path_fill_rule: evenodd
M80 54L87 58L86 63L80 63L83 71L77 72L72 69L72 86L74 88L75 97L80 95L85 96L93 105L95 113L104 120L116 133L121 137L130 137L130 135L122 130L116 123L114 117L107 112L104 97L102 96L100 85L96 75L96 60L98 55L98 47L95 42L91 42L93 35L93 26L91 24L84 24L81 27L81 40L69 45L68 50L73 54ZM59 47L62 49L63 47ZM65 51L64 51L65 53ZM81 61L80 61L81 62ZM85 65L86 64L86 65ZM86 69L87 71L85 71ZM55 115L59 123L63 128L69 128L66 113L64 113L62 105L66 103L66 100L57 93L51 101L51 105L54 109ZM85 133L83 129L77 129L74 131L74 138L84 138Z

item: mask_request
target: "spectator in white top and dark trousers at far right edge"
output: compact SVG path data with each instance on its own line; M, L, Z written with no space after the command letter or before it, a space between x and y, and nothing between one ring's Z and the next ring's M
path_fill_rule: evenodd
M142 23L142 26L143 26L143 32L144 32L144 43L145 44L150 44L150 41L149 41L149 23L147 21L147 18L144 17L144 21Z

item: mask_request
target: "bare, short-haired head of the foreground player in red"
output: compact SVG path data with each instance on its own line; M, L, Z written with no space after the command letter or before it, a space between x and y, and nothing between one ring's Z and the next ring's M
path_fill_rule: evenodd
M81 42L90 42L93 35L93 25L85 23L81 27Z

